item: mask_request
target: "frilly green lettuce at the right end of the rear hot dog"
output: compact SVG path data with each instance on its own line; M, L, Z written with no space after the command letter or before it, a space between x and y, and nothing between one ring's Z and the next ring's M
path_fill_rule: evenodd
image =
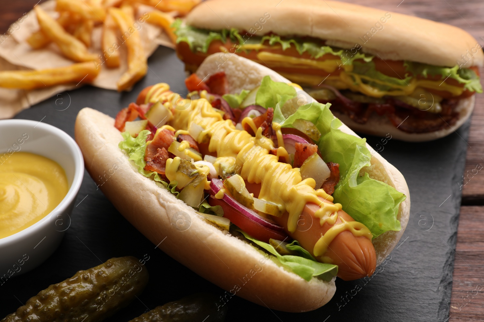
M452 68L439 67L411 61L406 61L404 66L414 75L421 75L423 77L441 75L442 80L453 78L460 84L464 84L464 88L471 92L483 92L479 76L477 76L474 70L469 68L460 68L459 65L455 65Z

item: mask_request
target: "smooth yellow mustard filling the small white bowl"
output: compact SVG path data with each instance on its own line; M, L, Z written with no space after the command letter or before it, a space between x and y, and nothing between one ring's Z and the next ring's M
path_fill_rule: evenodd
M37 154L15 152L0 164L0 238L44 218L68 191L64 169Z

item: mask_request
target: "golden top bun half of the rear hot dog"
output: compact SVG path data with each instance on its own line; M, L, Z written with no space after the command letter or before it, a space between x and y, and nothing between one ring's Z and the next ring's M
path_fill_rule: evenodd
M267 17L266 13L270 17L262 24L259 19ZM360 44L364 53L386 60L447 67L458 62L465 67L484 65L478 42L461 28L331 0L207 0L187 15L186 23L212 30L237 28L256 35L311 36L344 49ZM467 63L462 55L467 56Z

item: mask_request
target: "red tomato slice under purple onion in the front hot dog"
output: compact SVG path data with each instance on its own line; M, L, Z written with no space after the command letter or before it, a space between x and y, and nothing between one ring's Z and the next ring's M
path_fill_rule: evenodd
M269 228L262 226L247 217L242 215L238 210L233 209L222 199L217 199L214 196L210 196L209 204L211 206L221 206L224 210L224 217L228 218L232 224L237 225L244 232L249 234L253 238L257 238L263 242L268 243L269 239L286 240L287 235L284 232L273 231Z

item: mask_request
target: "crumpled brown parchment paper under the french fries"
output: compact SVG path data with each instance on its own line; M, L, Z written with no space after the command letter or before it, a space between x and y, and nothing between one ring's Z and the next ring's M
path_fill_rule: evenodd
M55 11L55 0L49 0L39 5L52 17L58 17L58 13ZM139 18L152 9L152 7L140 5L136 17ZM176 12L171 14L176 15ZM159 45L170 48L175 47L162 28L153 26L147 22L141 23L139 19L137 19L137 22L140 27L136 29L138 29L141 36L141 41L147 56L151 56ZM62 56L59 49L53 43L43 49L33 50L26 42L26 39L38 29L37 17L33 10L24 14L21 19L10 26L0 41L0 70L41 70L68 66L74 63L72 60ZM102 26L94 28L92 31L91 47L89 48L90 52L100 56L101 32ZM112 90L117 89L116 82L127 69L126 49L123 44L120 43L120 45L121 66L115 69L108 69L101 65L101 71L91 85ZM11 118L18 112L38 102L55 96L65 90L74 89L82 85L63 84L35 90L18 90L0 87L0 119Z

